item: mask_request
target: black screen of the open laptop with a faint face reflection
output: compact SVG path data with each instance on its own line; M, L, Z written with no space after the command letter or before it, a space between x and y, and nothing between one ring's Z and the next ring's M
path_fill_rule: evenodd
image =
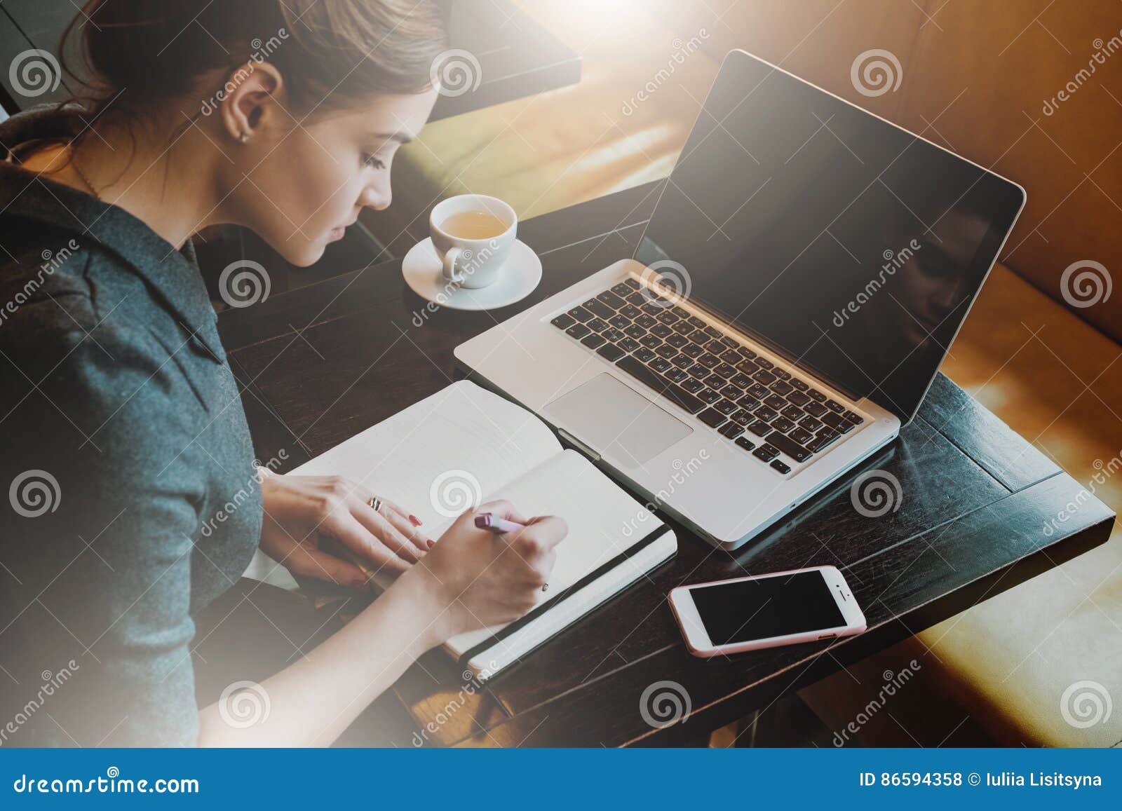
M635 258L907 422L1022 203L1015 184L733 52Z

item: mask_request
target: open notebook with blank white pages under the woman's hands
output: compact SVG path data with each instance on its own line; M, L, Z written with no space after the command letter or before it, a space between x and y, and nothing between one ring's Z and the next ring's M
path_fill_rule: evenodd
M431 537L481 501L560 515L550 589L506 626L444 647L487 679L617 595L678 550L674 533L526 409L473 383L454 383L302 464L292 473L347 477L415 514ZM246 577L295 588L260 551Z

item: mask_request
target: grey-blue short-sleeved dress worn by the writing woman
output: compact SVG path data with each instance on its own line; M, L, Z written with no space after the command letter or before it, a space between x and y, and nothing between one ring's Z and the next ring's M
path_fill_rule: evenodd
M254 473L190 245L0 162L0 746L196 743L193 618L257 545Z

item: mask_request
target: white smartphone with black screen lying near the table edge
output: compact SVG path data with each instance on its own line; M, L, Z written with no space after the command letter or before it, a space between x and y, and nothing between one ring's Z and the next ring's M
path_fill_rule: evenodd
M695 656L853 636L865 615L835 566L680 586L670 607Z

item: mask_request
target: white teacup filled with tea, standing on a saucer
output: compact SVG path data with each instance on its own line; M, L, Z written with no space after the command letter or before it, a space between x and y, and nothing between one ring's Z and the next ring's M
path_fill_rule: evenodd
M498 197L460 194L433 208L429 231L444 278L478 289L498 278L518 233L518 215Z

